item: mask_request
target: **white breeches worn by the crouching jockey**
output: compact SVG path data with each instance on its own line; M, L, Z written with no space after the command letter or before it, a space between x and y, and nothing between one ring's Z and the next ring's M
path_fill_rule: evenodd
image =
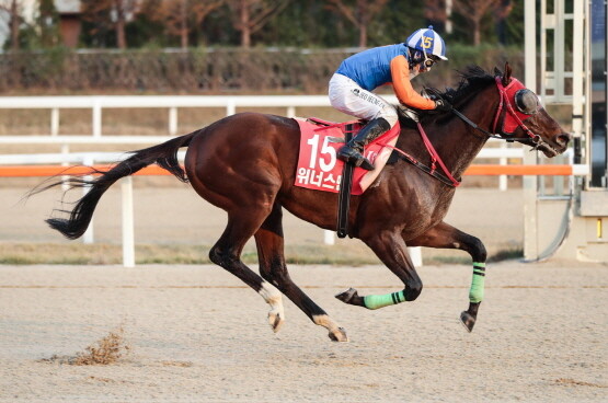
M332 106L347 115L366 120L383 117L391 127L399 120L397 110L392 104L381 96L364 90L346 76L333 74L329 92Z

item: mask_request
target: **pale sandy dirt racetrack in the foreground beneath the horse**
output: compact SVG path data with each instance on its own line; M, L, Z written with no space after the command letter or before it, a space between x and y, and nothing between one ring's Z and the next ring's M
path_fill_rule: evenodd
M214 266L0 266L0 400L608 401L607 265L490 265L471 334L457 320L468 266L423 267L415 302L378 311L333 295L400 289L383 267L291 273L349 343L289 301L273 334L262 298ZM116 364L48 360L119 326L130 349Z

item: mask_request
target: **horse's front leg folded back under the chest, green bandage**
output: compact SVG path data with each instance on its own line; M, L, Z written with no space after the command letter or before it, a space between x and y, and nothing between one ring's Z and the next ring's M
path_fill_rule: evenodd
M375 233L370 235L362 234L360 239L376 253L382 263L403 281L405 288L397 292L365 297L360 297L356 289L351 288L336 295L335 298L343 302L365 307L367 309L379 309L404 301L415 300L422 292L422 280L410 260L401 233L397 230L380 230L375 231Z

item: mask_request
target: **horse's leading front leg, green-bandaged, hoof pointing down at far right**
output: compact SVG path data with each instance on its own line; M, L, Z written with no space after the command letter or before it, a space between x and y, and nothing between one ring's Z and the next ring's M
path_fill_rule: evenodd
M469 235L448 223L440 222L422 235L408 241L410 246L427 246L438 249L459 249L468 252L473 258L473 278L469 289L469 309L460 314L462 324L469 332L477 321L479 306L483 299L485 280L485 246L479 238Z

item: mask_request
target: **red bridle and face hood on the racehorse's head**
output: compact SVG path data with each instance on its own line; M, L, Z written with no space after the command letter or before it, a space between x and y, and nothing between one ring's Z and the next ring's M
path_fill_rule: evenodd
M517 79L512 79L507 87L503 85L503 80L501 77L496 76L494 80L496 82L496 88L498 89L501 102L498 103L498 107L496 108L494 124L492 125L492 133L479 127L475 123L471 122L471 119L469 119L459 111L454 108L452 113L460 119L462 119L466 124L471 126L473 129L483 133L489 138L505 140L508 142L531 140L535 145L535 148L538 148L543 142L542 139L539 135L530 130L528 126L524 124L524 120L528 119L534 113L538 112L540 106L538 105L538 107L532 113L525 113L519 107L516 111L513 107L513 103L517 102L516 96L518 92L530 90L526 89L526 87ZM502 122L503 125L501 129L496 131L500 122ZM509 136L513 135L513 133L518 127L520 127L524 133L528 135L528 137L516 138Z

